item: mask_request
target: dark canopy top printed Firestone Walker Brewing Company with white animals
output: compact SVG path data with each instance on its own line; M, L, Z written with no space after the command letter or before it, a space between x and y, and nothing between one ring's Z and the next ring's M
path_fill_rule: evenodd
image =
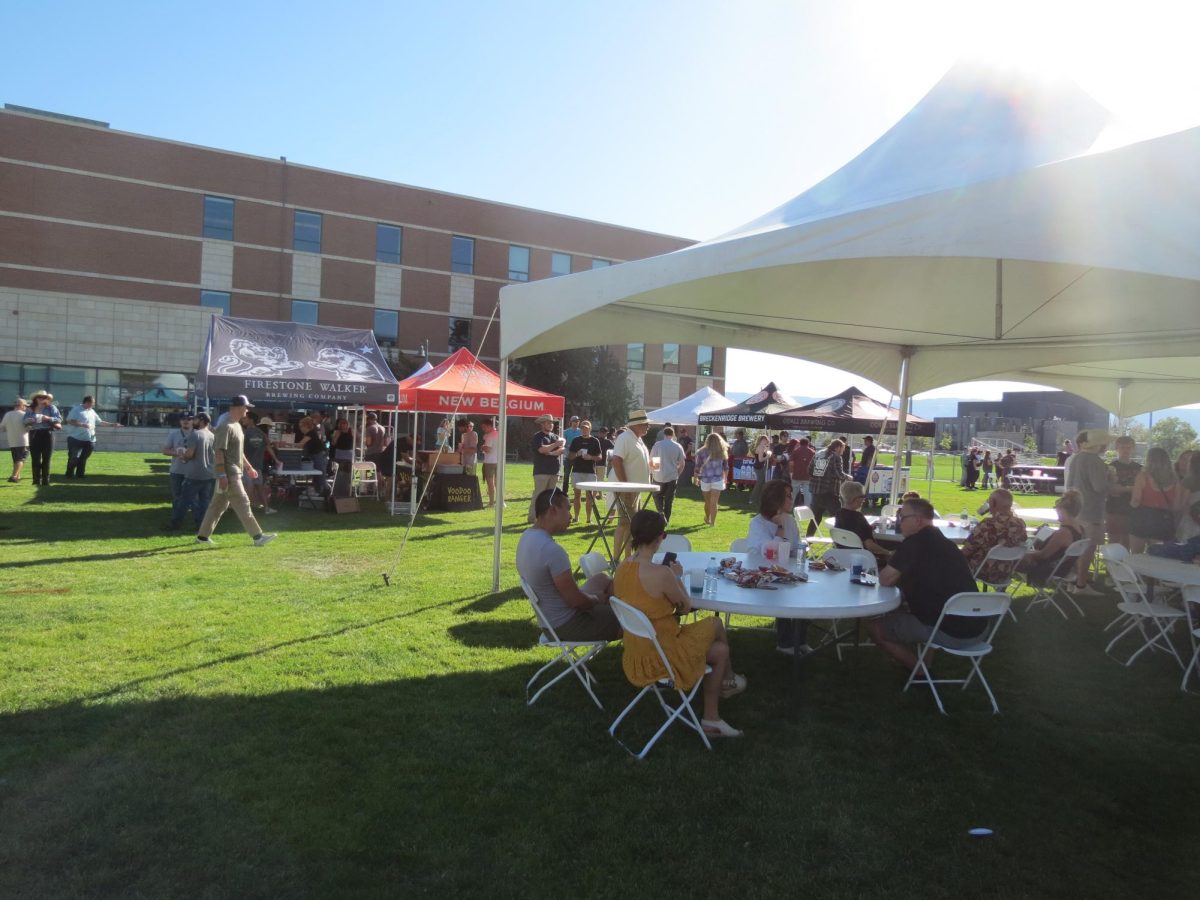
M209 397L392 404L396 377L374 332L214 316L196 376Z

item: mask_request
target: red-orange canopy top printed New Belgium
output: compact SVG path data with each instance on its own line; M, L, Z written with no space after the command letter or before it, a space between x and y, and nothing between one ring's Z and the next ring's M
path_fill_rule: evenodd
M396 406L373 408L444 415L497 415L500 412L500 377L463 347L428 372L401 382ZM562 419L566 404L556 394L509 382L508 408L509 415L553 415Z

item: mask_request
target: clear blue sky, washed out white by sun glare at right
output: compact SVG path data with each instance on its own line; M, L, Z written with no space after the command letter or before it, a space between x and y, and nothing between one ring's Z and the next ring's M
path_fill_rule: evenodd
M0 101L703 239L820 181L965 55L1052 61L1142 136L1200 124L1187 6L18 0ZM848 383L763 355L731 354L730 390L764 366L793 394Z

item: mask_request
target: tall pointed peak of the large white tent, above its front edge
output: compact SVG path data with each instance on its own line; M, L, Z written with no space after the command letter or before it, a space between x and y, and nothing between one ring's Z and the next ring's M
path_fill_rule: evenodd
M960 61L900 121L840 169L708 242L1085 156L1112 124L1112 114L1064 76Z

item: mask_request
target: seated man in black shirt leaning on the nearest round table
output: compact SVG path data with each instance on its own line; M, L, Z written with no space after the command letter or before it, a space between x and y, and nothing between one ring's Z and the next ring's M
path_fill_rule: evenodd
M880 572L880 583L900 586L908 611L896 610L868 619L866 631L884 653L906 668L917 665L908 644L928 641L946 601L962 592L978 590L966 557L934 526L929 500L905 500L900 508L900 533L905 540ZM938 643L966 648L979 642L988 619L947 618Z

